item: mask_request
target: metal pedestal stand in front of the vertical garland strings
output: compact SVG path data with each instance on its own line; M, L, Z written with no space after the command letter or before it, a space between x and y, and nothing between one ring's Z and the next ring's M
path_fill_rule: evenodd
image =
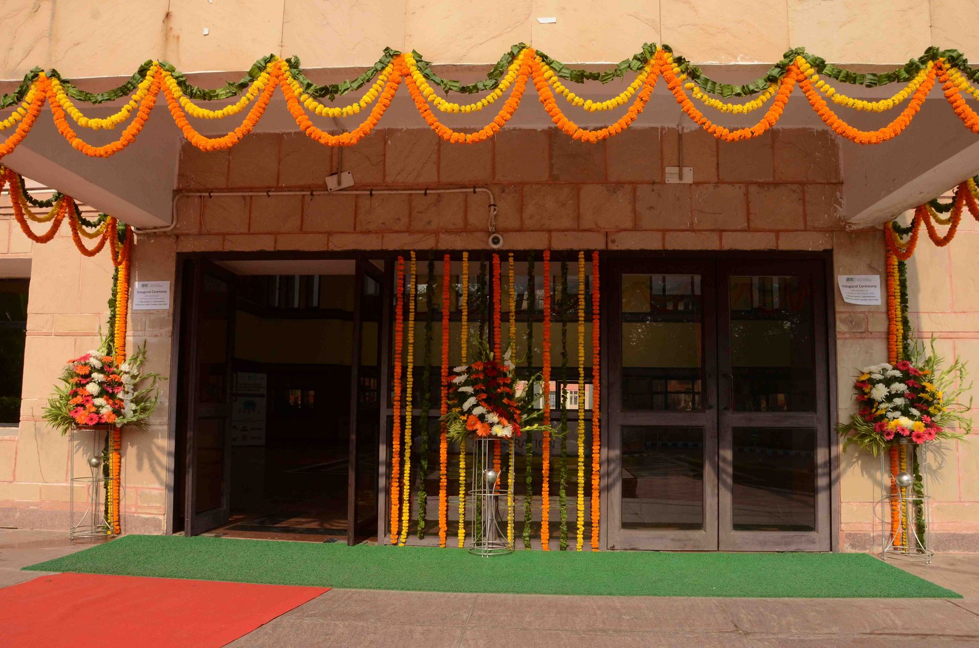
M469 491L473 512L473 541L469 553L477 556L502 556L513 546L499 523L499 498L507 491L499 486L499 475L492 468L495 439L473 440L472 488Z

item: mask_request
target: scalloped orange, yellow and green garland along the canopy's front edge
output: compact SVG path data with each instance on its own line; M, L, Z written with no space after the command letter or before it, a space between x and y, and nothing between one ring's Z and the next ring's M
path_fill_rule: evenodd
M585 99L566 85L566 82L583 84L586 81L608 83L631 73L635 75L627 88L611 99ZM710 79L683 57L674 55L668 45L657 47L646 43L641 52L617 66L594 71L568 68L543 52L519 43L500 57L489 70L486 79L469 84L441 78L417 52L402 54L390 48L384 51L377 63L356 78L327 85L310 82L303 74L300 61L296 57L264 57L256 61L245 78L215 89L190 84L181 72L161 61L147 61L117 88L101 93L79 89L62 78L55 69L45 72L35 68L24 75L15 92L0 97L0 109L13 109L9 115L0 118L0 131L13 130L6 139L0 141L0 159L20 145L33 128L45 104L51 111L58 132L72 148L95 158L114 156L134 142L142 132L161 91L170 116L184 137L204 151L227 149L251 133L264 116L276 88L282 91L290 115L308 137L324 146L352 146L377 127L402 82L407 85L419 115L439 137L453 144L483 142L499 132L520 107L524 92L531 81L544 110L561 132L576 140L594 143L629 128L649 102L661 75L683 113L724 141L758 137L766 132L781 117L796 86L802 90L819 118L834 132L861 144L878 144L901 134L918 114L921 104L934 85L941 83L943 96L956 116L969 130L979 134L979 114L967 101L979 99L979 88L973 85L979 79L979 69L971 68L961 53L951 49L928 48L920 57L901 68L884 73L862 73L837 68L820 57L808 54L803 48L796 48L786 52L781 61L758 79L741 85L731 85ZM906 85L887 99L867 102L840 92L827 79L868 87L889 83ZM338 96L367 84L370 85L360 99L347 106L330 106L319 101L324 97L333 101ZM434 86L440 87L443 92L486 94L475 102L458 104L439 96ZM687 91L690 92L689 95ZM726 101L732 96L754 95L757 96L744 103ZM720 114L743 115L763 108L769 101L771 104L765 116L755 125L729 129L701 113L691 96L693 100ZM449 114L476 113L504 97L506 99L503 106L485 126L467 129L467 132L443 124L430 108L434 106L436 110ZM573 108L581 108L588 113L611 112L626 106L629 101L631 104L626 114L610 125L586 129L561 111L558 97ZM875 130L862 131L837 116L823 97L837 106L874 113L895 109L906 101L907 106L886 125ZM216 109L195 103L228 99L236 101ZM116 113L106 117L85 116L75 103L98 105L117 100L125 100L124 105ZM238 116L246 109L248 112L241 123L219 137L201 134L188 119L188 116L223 119ZM313 117L327 118L356 116L361 112L366 113L368 109L369 113L356 127L339 134L324 130L310 118L310 114ZM113 130L121 126L122 131L111 142L93 145L81 138L69 121L80 128ZM329 127L328 124L324 125Z

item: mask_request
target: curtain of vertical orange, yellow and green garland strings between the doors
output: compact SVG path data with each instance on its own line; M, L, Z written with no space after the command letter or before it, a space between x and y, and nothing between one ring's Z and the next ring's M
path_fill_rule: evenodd
M391 451L391 492L390 492L390 502L391 502L391 512L390 512L390 542L396 545L407 544L409 523L412 520L412 514L417 516L418 528L419 530L426 524L425 522L425 512L423 498L427 497L425 492L425 479L427 477L427 469L425 468L425 442L420 441L414 443L417 446L417 452L412 457L412 444L414 441L412 438L416 433L423 433L428 429L428 409L425 407L426 397L422 394L421 404L422 407L419 411L415 411L413 405L414 401L414 370L416 369L416 358L414 354L414 347L416 344L415 332L416 332L416 308L415 304L421 301L421 293L425 292L424 306L427 310L427 316L425 319L425 337L426 342L424 343L424 348L431 350L431 343L429 337L432 335L429 332L429 324L433 325L435 322L435 311L436 311L436 300L441 298L439 301L438 308L441 313L441 353L440 353L440 367L439 367L439 384L440 384L440 396L441 405L440 413L443 417L442 425L440 426L440 439L439 439L439 546L447 546L447 534L448 534L448 463L449 463L449 444L458 443L456 436L451 434L451 431L447 429L444 425L444 421L450 419L451 417L446 417L446 414L451 414L451 408L453 400L450 397L452 389L452 366L449 364L451 360L451 326L453 316L452 312L452 301L451 293L452 290L457 290L457 308L458 308L458 322L460 325L460 346L459 346L459 356L461 358L460 364L465 364L468 362L468 358L472 355L469 347L481 347L484 348L486 353L491 353L495 355L500 354L500 357L505 357L505 352L510 352L517 355L517 351L523 349L526 345L527 352L521 352L520 362L521 368L518 370L519 380L523 381L525 379L531 378L536 373L535 359L536 345L535 345L535 331L536 328L541 330L540 339L540 363L541 367L539 369L540 375L536 376L536 380L541 381L539 388L535 387L533 389L537 390L534 400L539 403L537 405L537 414L542 421L545 423L537 428L537 432L542 433L542 451L541 451L541 461L539 463L539 470L537 468L536 462L533 459L534 456L534 441L530 439L530 433L535 429L534 425L525 426L523 425L525 421L521 421L521 429L526 435L522 437L524 439L524 463L523 463L523 475L520 475L520 468L517 462L517 449L518 443L515 439L501 438L501 442L506 442L506 455L503 456L501 445L501 452L499 455L494 456L494 461L498 462L496 464L501 479L503 471L505 469L506 481L505 483L499 483L499 487L503 488L504 485L507 489L506 492L506 533L507 540L513 544L516 540L517 533L517 517L516 517L516 505L517 505L517 494L516 485L518 479L526 480L526 490L524 496L524 527L523 536L525 541L525 546L529 547L532 539L537 536L541 541L541 548L544 550L551 550L555 548L551 542L550 537L550 523L551 523L551 506L550 506L550 495L551 495L551 472L555 465L556 457L552 456L551 453L551 442L556 439L560 443L560 463L557 464L558 476L555 484L559 487L558 490L558 505L560 511L560 523L558 525L558 531L560 532L560 543L559 548L561 550L568 549L568 511L567 511L567 421L568 421L568 411L566 407L567 396L571 391L568 389L568 381L570 376L568 375L568 325L569 322L574 321L572 319L572 312L577 311L578 315L578 429L579 429L579 440L577 449L577 462L578 462L578 496L577 496L577 508L576 508L576 519L578 522L578 541L576 548L578 550L583 550L583 543L585 541L586 526L587 522L585 520L585 509L589 507L589 501L585 497L586 491L590 493L590 549L595 551L599 548L600 537L599 537L599 524L600 524L600 457L601 457L601 434L600 434L600 367L601 367L601 333L599 326L600 319L600 292L599 292L599 255L597 252L590 253L590 257L586 256L584 252L577 255L578 260L578 286L577 295L573 291L569 290L568 286L568 267L569 259L574 259L575 256L561 255L560 261L560 283L555 283L557 277L551 276L551 273L556 270L552 265L553 255L550 251L543 252L543 260L537 261L535 265L534 257L535 253L528 253L527 258L527 269L526 269L526 289L522 295L518 295L518 286L521 285L518 282L517 276L517 258L513 253L508 253L505 258L506 267L503 267L504 258L502 255L490 254L485 255L480 261L480 271L476 278L476 281L472 284L470 283L469 275L469 253L462 253L462 263L461 270L459 272L458 283L452 283L452 259L451 255L443 255L442 264L442 277L438 278L436 275L436 263L435 259L432 258L428 261L428 275L427 279L422 280L417 274L417 260L415 253L411 252L407 255L399 255L396 258L395 264L395 308L394 308L394 335L393 335L393 363L394 371L392 378L392 388L393 388L393 399L392 408L394 414L394 423L392 427L392 451ZM585 279L588 275L588 262L590 262L590 290L586 289ZM505 272L505 277L504 277ZM536 282L537 275L540 276L540 282L542 285L541 291L541 309L538 312L536 308ZM436 295L437 282L442 281L441 285L441 295ZM421 283L424 282L424 289ZM504 322L503 309L504 309L504 289L506 292L505 308L506 308L506 322ZM558 292L558 289L559 292ZM590 300L589 300L590 296ZM407 300L407 307L405 307L405 300ZM590 303L589 303L590 301ZM475 304L475 306L474 306ZM475 307L474 312L470 311L470 307ZM520 341L518 345L518 308L523 308L524 316L526 316L526 341ZM590 326L591 333L590 336L585 335L585 323L587 320L587 314L590 308ZM479 322L478 329L473 327L470 330L470 316L476 318ZM521 317L523 321L523 317ZM555 318L558 318L555 320ZM552 366L556 358L553 357L551 353L551 329L554 326L560 326L561 335L561 359L560 359L560 369ZM504 330L505 329L505 330ZM418 341L420 344L420 341ZM585 386L586 381L586 366L585 360L588 356L585 355L587 352L587 347L591 346L591 373L590 380L592 386L591 397L591 415L589 418L585 418ZM489 348L488 348L489 346ZM423 351L424 352L424 351ZM489 357L489 355L488 355ZM426 362L428 362L426 360ZM434 371L433 367L426 368L424 365L417 367L424 376L430 374ZM559 372L555 374L555 372ZM552 406L550 404L550 395L553 392L552 387L549 385L550 380L554 379L554 376L558 376L557 380L559 385L557 388L558 401L559 401L559 411L552 412ZM424 383L424 379L422 380ZM427 383L426 383L427 384ZM549 423L552 418L555 419L555 424L553 428ZM560 424L557 424L557 420L560 420ZM588 429L590 428L590 439L587 439ZM546 434L544 431L546 429ZM587 442L587 441L589 442ZM588 468L588 460L586 455L590 452L590 469ZM464 547L466 542L466 447L464 443L459 443L459 451L457 455L458 461L458 520L457 520L457 542L454 546ZM414 469L414 473L412 470ZM585 487L585 474L590 470L591 484L590 491ZM536 522L533 519L534 514L534 496L532 485L536 480L541 481L540 488L540 502L541 502L541 524L539 527L538 534L536 533ZM411 492L412 484L417 484L415 486L415 491ZM454 493L453 493L454 496ZM415 510L412 511L412 506L415 506ZM423 537L419 533L419 537Z

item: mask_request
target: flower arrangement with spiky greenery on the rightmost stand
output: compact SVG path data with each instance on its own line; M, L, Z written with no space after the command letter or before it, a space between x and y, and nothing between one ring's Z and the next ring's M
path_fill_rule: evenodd
M854 384L860 411L837 428L845 437L843 449L856 443L877 456L897 442L961 439L971 431L972 422L963 413L972 401L959 401L972 387L965 380L965 363L956 358L942 369L934 342L927 356L924 346L917 344L911 347L909 360L862 369ZM961 432L952 432L953 427Z

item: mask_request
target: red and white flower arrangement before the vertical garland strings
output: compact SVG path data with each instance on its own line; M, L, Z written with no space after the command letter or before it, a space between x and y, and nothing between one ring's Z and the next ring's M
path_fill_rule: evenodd
M452 369L448 413L442 417L450 440L515 439L546 427L538 423L542 412L535 407L540 374L518 383L511 351L507 349L499 362L485 343L477 343L477 358Z

